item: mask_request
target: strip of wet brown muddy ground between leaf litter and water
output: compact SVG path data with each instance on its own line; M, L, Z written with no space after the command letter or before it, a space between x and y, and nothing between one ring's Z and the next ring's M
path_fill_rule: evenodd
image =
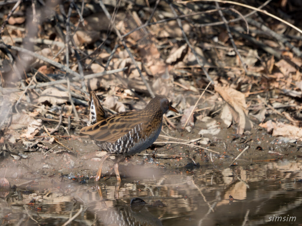
M168 130L166 127L163 130L168 131L171 137L193 140L201 137L198 135L198 131L203 128L206 128L204 124L198 122L192 128L191 133L182 129ZM102 153L89 137L80 137L78 131L74 131L74 135L77 137L58 139L65 147L56 142L53 144L45 142L49 148L48 151L31 150L28 152L23 145L17 145L13 152L22 153L26 155L26 158L16 160L12 156L8 156L3 159L1 177L7 178L11 185L17 186L23 183L35 183L42 178L61 180L62 176L79 180L81 183L88 182L88 178L93 180L91 177L96 174L99 156ZM281 159L295 161L302 157L300 142L290 143L280 139L282 137L272 137L260 127L254 128L248 134L238 136L234 127L231 126L222 128L217 135L205 134L203 137L209 138L209 144L200 146L220 154L184 144L153 144L145 151L128 156L120 162L122 179L126 177L133 177L137 180L146 177L152 178L154 174L170 170L173 171L173 174L194 174L202 167L221 171L229 167L265 164ZM159 137L157 141L175 142L174 139L165 140L162 137ZM181 140L181 142L183 141ZM195 145L198 143L195 142ZM246 147L248 149L233 163ZM109 159L105 162L102 175L104 175L102 180L108 180L110 177L115 180L112 160Z

